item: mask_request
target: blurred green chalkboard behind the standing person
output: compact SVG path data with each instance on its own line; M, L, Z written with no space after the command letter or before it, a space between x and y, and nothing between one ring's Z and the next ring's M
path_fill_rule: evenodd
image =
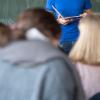
M13 23L19 12L32 7L45 7L46 0L0 0L0 22ZM100 12L100 0L92 0L93 10Z

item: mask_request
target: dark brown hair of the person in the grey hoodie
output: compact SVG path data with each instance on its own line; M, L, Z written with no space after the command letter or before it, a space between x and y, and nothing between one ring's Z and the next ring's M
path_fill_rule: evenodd
M55 17L42 8L23 11L18 17L17 28L25 31L31 28L37 28L49 38L58 38L61 31Z

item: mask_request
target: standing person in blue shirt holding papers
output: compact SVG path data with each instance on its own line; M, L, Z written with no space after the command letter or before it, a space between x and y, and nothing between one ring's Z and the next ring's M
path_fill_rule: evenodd
M46 9L54 13L58 23L61 24L59 47L66 54L69 54L79 36L79 19L73 16L84 17L92 12L91 7L90 0L47 0ZM72 17L72 19L65 19L65 17Z

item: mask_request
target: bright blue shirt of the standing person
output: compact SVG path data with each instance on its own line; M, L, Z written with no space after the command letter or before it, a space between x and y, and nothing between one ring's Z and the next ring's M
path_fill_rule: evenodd
M90 0L47 0L46 9L55 13L52 5L54 5L64 17L78 16L85 10L91 8ZM55 16L57 18L57 13ZM60 43L77 40L79 36L78 23L79 20L76 20L70 24L61 25L62 34Z

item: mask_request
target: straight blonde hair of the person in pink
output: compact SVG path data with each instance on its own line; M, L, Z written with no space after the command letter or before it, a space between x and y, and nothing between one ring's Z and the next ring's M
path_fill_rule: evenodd
M80 20L80 36L70 58L74 62L100 64L100 14L89 15Z

